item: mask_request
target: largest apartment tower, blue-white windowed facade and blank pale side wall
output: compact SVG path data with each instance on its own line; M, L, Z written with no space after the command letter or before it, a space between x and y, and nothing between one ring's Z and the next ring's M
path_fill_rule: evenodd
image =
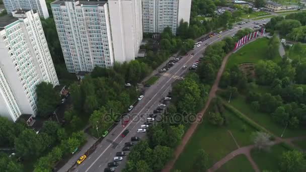
M68 72L90 72L137 56L142 41L140 1L57 0L51 8Z

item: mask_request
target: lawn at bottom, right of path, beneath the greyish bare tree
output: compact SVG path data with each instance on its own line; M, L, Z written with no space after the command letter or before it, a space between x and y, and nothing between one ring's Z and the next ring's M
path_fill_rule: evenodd
M277 144L272 146L269 151L258 151L253 149L251 151L251 156L261 171L266 169L274 172L279 171L279 157L283 151L287 151L287 149Z

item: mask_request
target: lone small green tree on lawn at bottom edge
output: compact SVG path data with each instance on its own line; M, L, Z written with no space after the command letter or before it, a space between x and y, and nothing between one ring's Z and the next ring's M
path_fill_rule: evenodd
M193 162L193 170L199 172L206 171L208 165L208 154L203 149L198 150Z

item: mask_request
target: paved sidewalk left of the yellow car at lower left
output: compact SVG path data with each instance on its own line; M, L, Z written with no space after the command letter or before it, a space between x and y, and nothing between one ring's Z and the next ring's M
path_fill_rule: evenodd
M69 170L69 168L72 167L72 165L77 162L77 160L80 158L80 156L84 155L85 152L87 152L87 150L93 145L95 144L95 142L97 141L96 138L88 135L87 133L85 133L86 137L87 137L87 142L85 143L84 146L82 146L81 150L78 151L77 153L75 153L72 157L69 158L69 160L65 163L64 166L62 166L60 169L58 169L58 172L66 172Z

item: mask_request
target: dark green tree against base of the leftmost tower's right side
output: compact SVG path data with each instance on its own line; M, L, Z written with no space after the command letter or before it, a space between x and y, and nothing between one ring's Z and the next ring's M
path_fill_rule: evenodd
M59 104L59 94L53 89L53 85L41 82L36 85L38 113L46 117L51 114Z

